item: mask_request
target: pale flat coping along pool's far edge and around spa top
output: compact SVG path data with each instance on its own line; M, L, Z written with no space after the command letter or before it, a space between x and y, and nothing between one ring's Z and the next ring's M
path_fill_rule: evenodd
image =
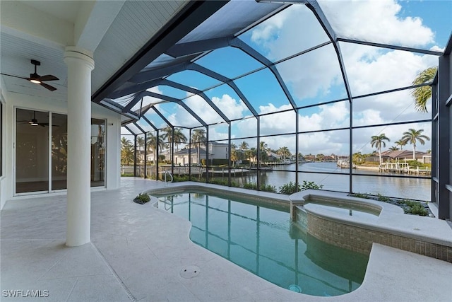
M441 219L432 217L415 216L404 214L403 209L386 202L379 202L374 199L364 199L359 197L350 197L343 192L329 192L322 190L304 190L295 194L285 195L272 192L263 192L248 190L239 187L225 187L222 185L206 184L203 182L175 182L166 187L153 188L146 190L151 195L150 202L155 204L157 198L153 194L177 193L184 190L201 189L210 192L222 192L228 195L237 195L237 197L250 197L261 201L261 199L270 200L269 204L278 204L283 207L299 207L306 204L304 209L309 213L323 217L325 219L352 226L365 226L375 231L383 231L398 236L408 236L409 238L428 240L431 243L446 245L452 247L452 228L448 223ZM374 209L380 209L379 218L376 221L354 221L347 217L339 217L328 214L328 211L314 209L309 207L307 199L312 198L337 199L341 202L350 204L364 204Z

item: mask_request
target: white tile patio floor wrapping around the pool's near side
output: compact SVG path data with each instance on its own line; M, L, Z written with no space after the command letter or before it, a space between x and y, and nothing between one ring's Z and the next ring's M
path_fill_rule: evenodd
M190 223L131 200L162 182L121 179L91 194L91 243L67 248L66 195L15 199L1 211L1 301L452 301L452 264L374 245L350 294L296 294L189 240ZM195 277L186 279L181 272ZM196 269L196 273L191 271ZM36 292L35 292L36 293Z

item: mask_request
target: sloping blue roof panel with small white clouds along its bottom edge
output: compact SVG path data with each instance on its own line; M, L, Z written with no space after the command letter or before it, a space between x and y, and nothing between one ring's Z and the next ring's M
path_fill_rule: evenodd
M292 108L280 84L269 69L263 69L234 81L259 113Z

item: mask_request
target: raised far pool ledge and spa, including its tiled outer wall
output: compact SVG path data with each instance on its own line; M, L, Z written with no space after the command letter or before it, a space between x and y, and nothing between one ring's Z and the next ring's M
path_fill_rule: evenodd
M148 190L151 203L157 206L155 194L202 190L230 197L246 197L251 202L288 207L293 221L302 221L307 231L319 240L369 254L372 243L388 245L420 255L452 262L452 228L446 221L432 217L404 214L402 208L374 199L350 197L347 193L304 190L290 196L273 192L247 190L202 182L176 182ZM339 204L352 204L379 211L379 216L365 221L354 216L338 216L324 207L309 204L310 199L323 199ZM312 203L312 202L311 202ZM307 213L304 217L300 214Z

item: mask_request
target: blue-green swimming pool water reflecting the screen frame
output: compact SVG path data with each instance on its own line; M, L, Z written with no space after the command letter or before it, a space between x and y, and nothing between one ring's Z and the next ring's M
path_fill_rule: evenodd
M194 192L159 197L158 207L191 221L194 243L285 289L338 296L364 279L367 255L314 238L288 208Z

